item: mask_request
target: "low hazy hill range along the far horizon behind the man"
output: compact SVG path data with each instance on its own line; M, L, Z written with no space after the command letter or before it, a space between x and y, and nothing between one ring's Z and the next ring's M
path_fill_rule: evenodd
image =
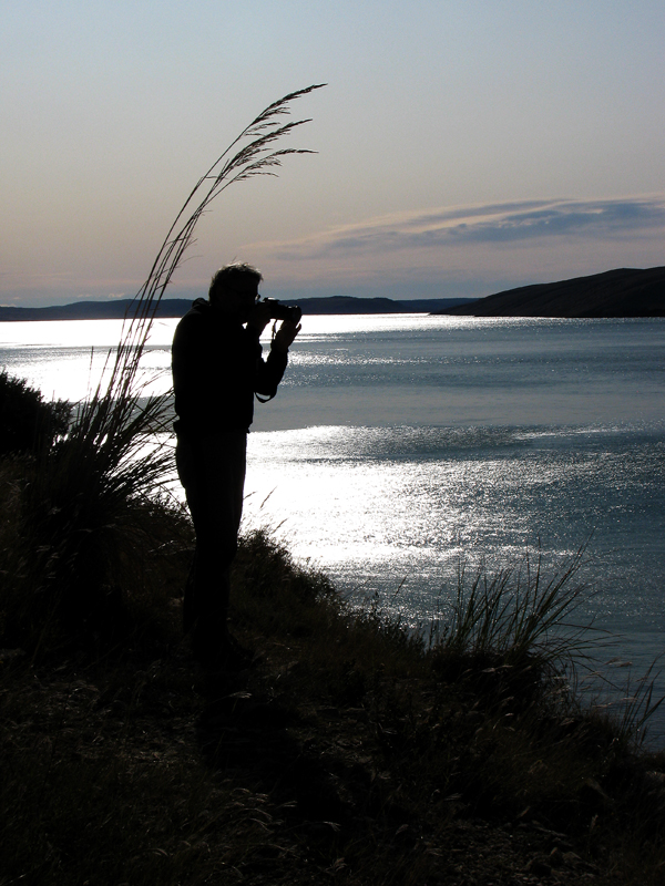
M316 313L434 313L442 308L467 305L472 298L429 298L412 301L395 301L390 298L352 298L331 296L329 298L289 299L288 303L299 305L305 315ZM19 320L122 320L131 299L113 301L76 301L51 308L0 308L0 322ZM157 306L156 317L182 317L192 307L184 298L166 298Z

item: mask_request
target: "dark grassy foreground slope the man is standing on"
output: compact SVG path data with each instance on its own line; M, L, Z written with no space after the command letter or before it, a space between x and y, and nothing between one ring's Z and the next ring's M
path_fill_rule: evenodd
M206 676L174 521L124 631L0 650L2 886L662 884L663 755L562 703L538 656L428 652L257 534L233 611L256 659Z

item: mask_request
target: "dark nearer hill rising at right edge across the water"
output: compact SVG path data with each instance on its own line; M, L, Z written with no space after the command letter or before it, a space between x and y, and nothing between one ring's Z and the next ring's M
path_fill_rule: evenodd
M618 268L508 289L436 313L462 317L665 317L665 267Z

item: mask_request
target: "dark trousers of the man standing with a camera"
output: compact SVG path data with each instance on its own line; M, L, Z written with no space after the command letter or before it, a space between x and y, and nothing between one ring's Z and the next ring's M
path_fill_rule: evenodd
M175 463L196 533L183 627L195 651L228 643L231 567L238 546L247 455L245 431L178 436Z

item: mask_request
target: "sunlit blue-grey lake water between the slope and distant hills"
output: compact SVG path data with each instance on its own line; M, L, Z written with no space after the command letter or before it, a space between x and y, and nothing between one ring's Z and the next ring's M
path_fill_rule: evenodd
M151 338L154 390L175 323ZM0 323L0 367L85 396L120 326ZM644 671L665 651L664 395L662 319L306 317L257 404L246 525L412 625L444 610L461 562L529 550L553 570L587 543L580 620L620 633L605 658Z

